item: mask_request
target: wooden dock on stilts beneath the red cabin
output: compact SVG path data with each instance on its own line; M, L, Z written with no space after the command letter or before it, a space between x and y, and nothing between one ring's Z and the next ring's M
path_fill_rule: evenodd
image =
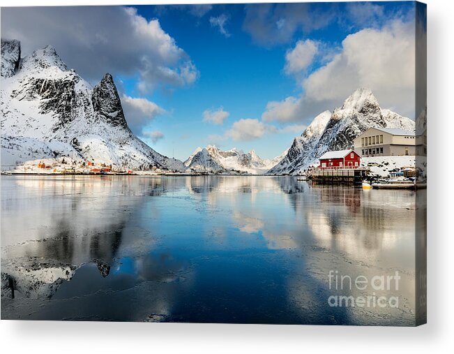
M312 168L308 177L314 184L361 186L369 173L368 168Z

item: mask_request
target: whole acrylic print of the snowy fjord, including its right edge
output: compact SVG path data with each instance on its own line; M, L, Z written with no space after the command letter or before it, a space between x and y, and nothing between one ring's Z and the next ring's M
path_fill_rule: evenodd
M1 318L425 323L426 7L1 8Z

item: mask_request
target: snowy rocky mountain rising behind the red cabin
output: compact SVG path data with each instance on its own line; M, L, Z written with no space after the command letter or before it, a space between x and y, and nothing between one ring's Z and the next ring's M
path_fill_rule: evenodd
M333 150L353 147L353 140L368 128L401 128L414 131L415 124L391 110L382 110L370 89L357 89L341 108L315 117L301 136L294 138L282 161L268 175L298 174Z

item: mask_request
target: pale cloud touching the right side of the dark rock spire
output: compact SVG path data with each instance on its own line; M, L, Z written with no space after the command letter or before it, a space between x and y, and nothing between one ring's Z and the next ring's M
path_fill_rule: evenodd
M126 94L121 96L121 105L125 112L128 126L135 133L140 133L142 128L152 121L156 116L166 111L146 98L134 98Z

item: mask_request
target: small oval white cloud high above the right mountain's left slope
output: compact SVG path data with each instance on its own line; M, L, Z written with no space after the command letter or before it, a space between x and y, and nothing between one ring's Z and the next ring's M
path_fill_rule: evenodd
M285 54L285 72L287 74L305 71L315 58L319 50L319 43L315 40L298 40L292 50Z

